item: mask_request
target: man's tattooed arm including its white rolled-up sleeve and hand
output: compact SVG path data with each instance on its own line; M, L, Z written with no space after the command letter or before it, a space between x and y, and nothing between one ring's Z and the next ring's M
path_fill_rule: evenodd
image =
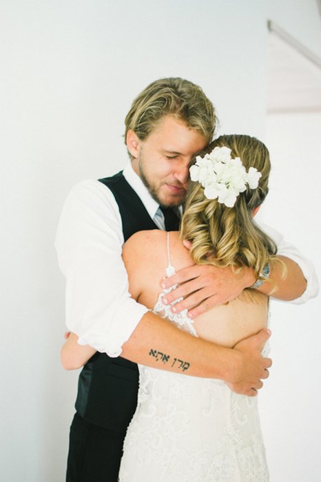
M224 379L238 392L256 394L271 365L260 355L260 338L240 350L222 348L149 313L128 292L122 245L121 217L110 191L98 181L76 186L59 221L56 250L66 277L67 326L79 344L163 370Z

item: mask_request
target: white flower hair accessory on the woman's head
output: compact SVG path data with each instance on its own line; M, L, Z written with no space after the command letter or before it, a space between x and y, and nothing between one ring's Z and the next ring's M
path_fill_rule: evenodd
M231 158L231 149L227 147L214 148L205 157L196 157L196 163L189 168L191 181L203 185L207 199L216 199L227 208L233 208L240 192L247 188L258 187L262 174L256 168L245 170L240 157Z

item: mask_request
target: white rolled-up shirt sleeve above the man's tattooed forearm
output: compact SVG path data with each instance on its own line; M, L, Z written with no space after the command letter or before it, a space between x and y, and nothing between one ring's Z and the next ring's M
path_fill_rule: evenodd
M65 201L55 241L66 279L66 325L79 344L110 357L121 354L148 311L130 297L123 242L112 192L99 181L76 185Z

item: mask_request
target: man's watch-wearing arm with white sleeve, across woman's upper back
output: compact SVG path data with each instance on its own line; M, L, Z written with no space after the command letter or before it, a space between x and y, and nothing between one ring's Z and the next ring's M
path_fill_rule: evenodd
M273 290L272 283L263 283L258 291L271 295L280 301L291 303L305 303L318 294L319 284L313 264L304 257L291 243L284 241L282 235L266 225L262 228L278 245L278 258L287 267L287 275L284 277L282 265L273 263L270 266L270 279L276 281L277 289ZM251 287L256 278L252 268L245 268L242 275L236 277L231 268L216 268L211 265L194 265L182 270L171 278L162 282L162 288L170 288L174 284L180 287L173 290L163 301L172 303L175 299L185 297L180 303L176 303L173 311L180 312L187 308L189 317L194 318L214 305L225 303Z

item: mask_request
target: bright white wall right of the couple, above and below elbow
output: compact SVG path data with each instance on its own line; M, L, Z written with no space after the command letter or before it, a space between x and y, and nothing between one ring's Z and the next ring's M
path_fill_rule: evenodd
M321 113L269 116L270 192L261 216L313 259L320 279ZM320 481L320 297L271 303L271 376L260 393L271 482Z

